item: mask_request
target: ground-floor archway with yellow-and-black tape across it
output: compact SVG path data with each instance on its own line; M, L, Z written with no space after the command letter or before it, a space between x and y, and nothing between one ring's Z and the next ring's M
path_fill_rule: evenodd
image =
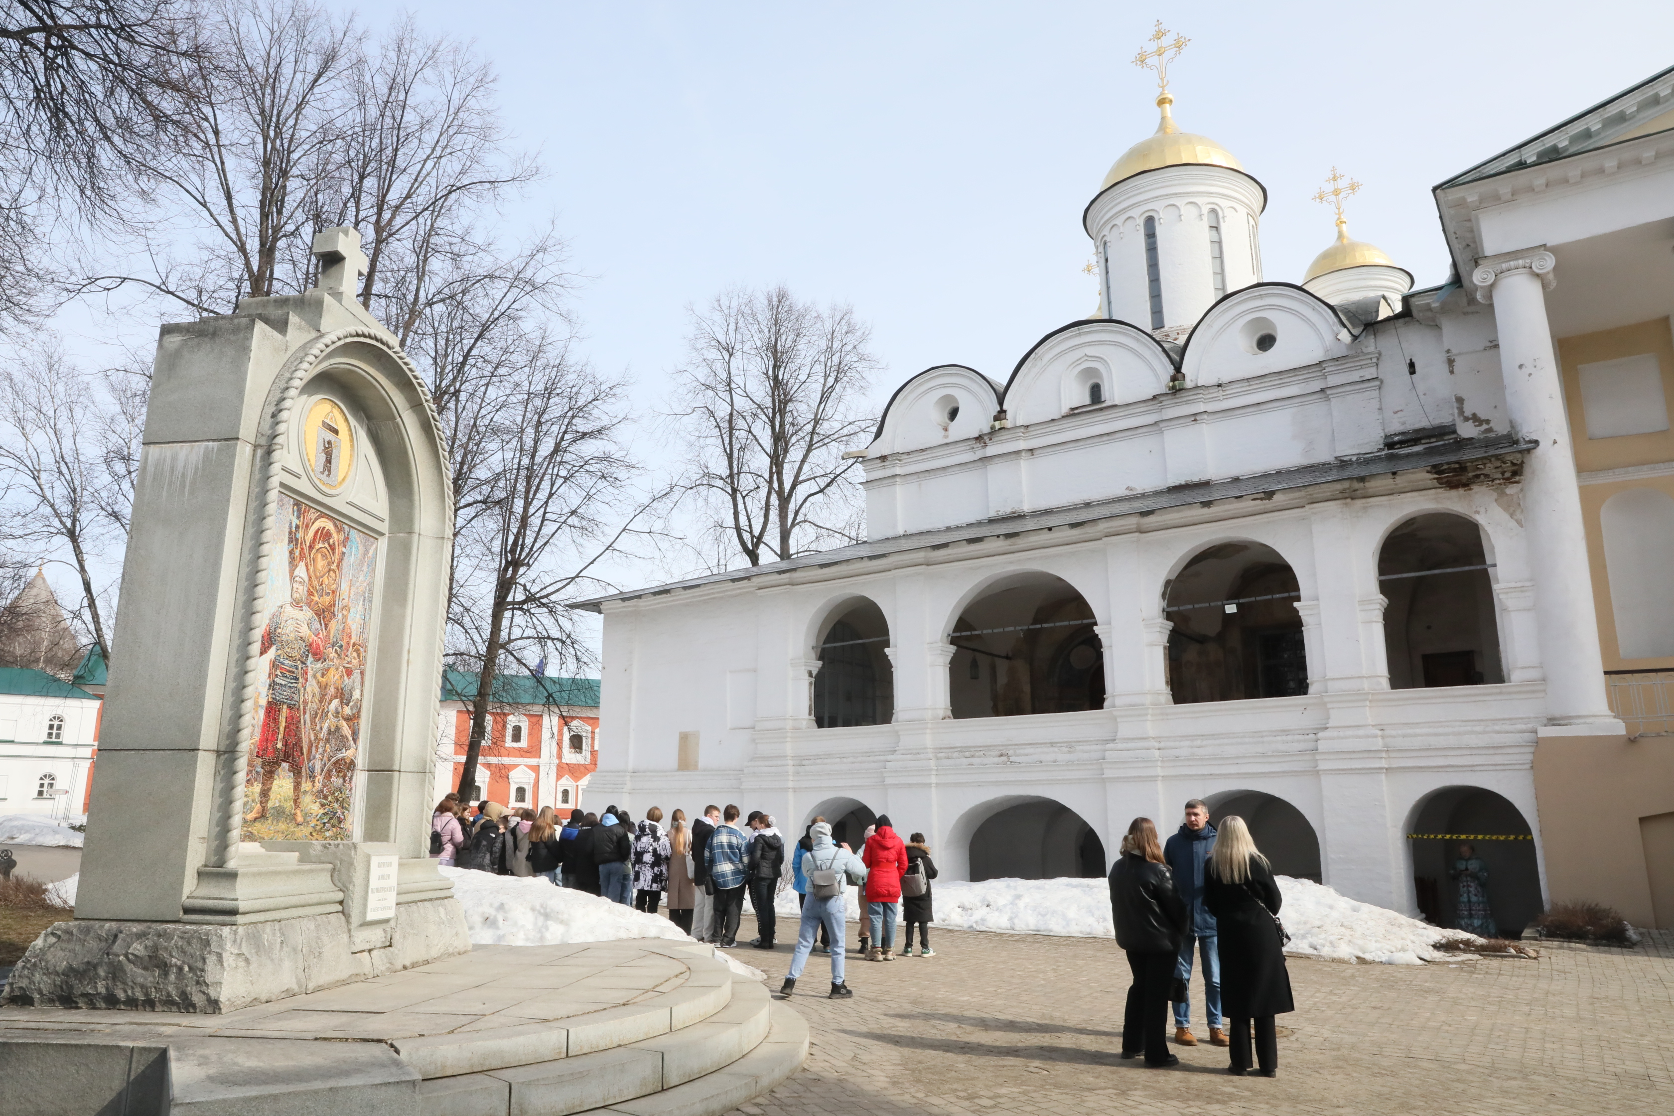
M1498 937L1517 937L1545 909L1533 832L1503 795L1443 786L1418 800L1406 833L1418 910L1428 922L1471 929L1466 924L1480 917L1471 907L1487 898Z

